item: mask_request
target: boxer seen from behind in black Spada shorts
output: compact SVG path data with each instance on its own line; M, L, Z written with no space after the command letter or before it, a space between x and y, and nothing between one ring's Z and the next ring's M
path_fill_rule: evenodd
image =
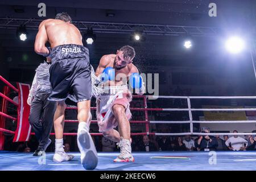
M51 47L45 46L47 42ZM91 85L89 51L83 46L82 35L71 23L67 13L59 13L55 19L46 19L40 23L35 40L35 52L52 59L49 69L52 93L48 100L57 101L53 123L55 130L53 161L64 162L74 157L66 154L63 148L65 99L70 98L77 102L79 120L77 145L81 152L81 164L85 169L96 168L97 151L89 133L92 118L90 98L94 90Z

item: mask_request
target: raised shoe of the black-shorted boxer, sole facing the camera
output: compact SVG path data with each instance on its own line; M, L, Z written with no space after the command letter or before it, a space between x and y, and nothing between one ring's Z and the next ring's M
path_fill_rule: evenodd
M81 152L81 164L85 169L95 169L98 164L97 151L88 127L82 127L77 132L77 146Z

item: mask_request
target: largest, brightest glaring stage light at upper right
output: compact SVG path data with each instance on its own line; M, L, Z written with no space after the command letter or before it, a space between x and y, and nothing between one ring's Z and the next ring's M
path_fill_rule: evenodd
M225 47L231 53L240 53L245 48L245 42L243 39L233 36L226 41Z

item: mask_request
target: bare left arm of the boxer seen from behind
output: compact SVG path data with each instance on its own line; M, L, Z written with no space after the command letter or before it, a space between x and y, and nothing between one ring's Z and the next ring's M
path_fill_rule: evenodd
M43 20L43 22L40 23L38 34L36 34L35 46L34 46L35 52L43 56L49 55L49 50L46 48L46 42L48 40L48 36L46 32L46 27L45 27L45 24L48 20L49 19Z

